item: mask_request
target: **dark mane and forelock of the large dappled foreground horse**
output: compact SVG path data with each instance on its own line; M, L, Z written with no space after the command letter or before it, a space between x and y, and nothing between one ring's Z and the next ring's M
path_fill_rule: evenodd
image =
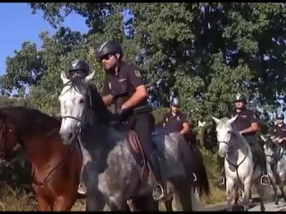
M111 120L113 120L113 114L106 107L102 97L97 91L96 86L91 83L86 84L84 79L82 79L80 76L75 76L75 78L72 78L70 83L70 87L73 87L80 93L89 94L91 109L93 109L95 112L97 120L99 120L101 124L109 125Z

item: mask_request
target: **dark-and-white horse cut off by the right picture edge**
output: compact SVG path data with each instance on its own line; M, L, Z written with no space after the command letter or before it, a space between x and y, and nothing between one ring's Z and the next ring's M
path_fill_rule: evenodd
M275 204L278 205L277 186L279 186L283 200L286 202L283 187L285 185L286 173L286 153L285 148L278 145L277 140L273 135L260 135L260 138L265 142L263 149L266 156L267 173L270 178L271 186L274 190Z

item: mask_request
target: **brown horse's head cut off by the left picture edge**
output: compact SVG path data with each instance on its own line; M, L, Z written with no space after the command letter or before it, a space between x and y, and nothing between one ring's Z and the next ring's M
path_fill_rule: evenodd
M17 127L8 114L0 110L0 169L8 167L8 160L15 158L19 149Z

